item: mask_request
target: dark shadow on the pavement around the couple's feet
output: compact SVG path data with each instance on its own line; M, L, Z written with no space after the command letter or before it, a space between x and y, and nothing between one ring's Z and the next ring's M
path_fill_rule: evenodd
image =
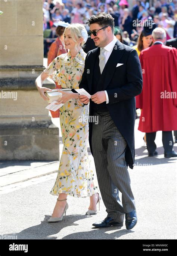
M67 215L66 220L62 220L55 223L48 223L47 220L50 218L49 215L45 215L41 224L28 227L27 229L22 230L19 233L8 233L4 234L5 236L17 236L18 239L117 239L122 235L127 233L132 233L132 230L127 230L124 227L108 227L97 229L92 226L92 221L90 221L90 227L93 230L86 232L75 232L73 228L73 233L58 238L55 236L63 228L69 226L78 226L79 224L74 223L75 221L87 218L85 215ZM106 233L108 231L115 231L112 233ZM49 237L52 236L52 237Z

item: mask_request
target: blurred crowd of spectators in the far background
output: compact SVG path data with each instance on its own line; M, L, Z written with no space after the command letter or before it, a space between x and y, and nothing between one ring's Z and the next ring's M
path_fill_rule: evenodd
M112 15L115 35L130 46L137 44L148 19L165 29L167 40L177 37L177 0L43 0L44 55L57 37L54 23L82 23L88 31L88 18L98 12Z

